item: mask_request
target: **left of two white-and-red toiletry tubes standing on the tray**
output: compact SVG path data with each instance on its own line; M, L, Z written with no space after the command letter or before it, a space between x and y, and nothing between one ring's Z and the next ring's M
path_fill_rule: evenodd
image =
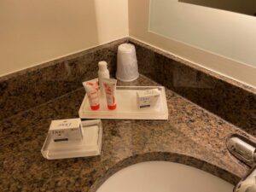
M99 81L98 79L92 79L90 81L83 82L84 89L86 90L88 100L90 102L91 110L97 110L100 108L100 94L99 94Z

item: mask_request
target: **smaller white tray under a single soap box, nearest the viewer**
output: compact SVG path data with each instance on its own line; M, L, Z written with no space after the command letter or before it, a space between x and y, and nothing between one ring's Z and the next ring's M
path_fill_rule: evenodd
M80 142L55 143L48 134L41 153L48 160L96 156L102 149L102 121L82 121L84 138Z

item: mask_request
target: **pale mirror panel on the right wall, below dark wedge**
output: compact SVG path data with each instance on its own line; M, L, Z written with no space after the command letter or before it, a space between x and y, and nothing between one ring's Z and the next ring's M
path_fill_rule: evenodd
M224 0L150 0L148 32L256 67L254 16L181 1L210 5ZM227 1L256 4L256 0Z

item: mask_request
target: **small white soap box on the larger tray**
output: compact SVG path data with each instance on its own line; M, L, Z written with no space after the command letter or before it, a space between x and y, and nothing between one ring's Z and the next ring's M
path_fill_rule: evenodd
M158 89L138 90L137 91L137 108L152 108L160 97Z

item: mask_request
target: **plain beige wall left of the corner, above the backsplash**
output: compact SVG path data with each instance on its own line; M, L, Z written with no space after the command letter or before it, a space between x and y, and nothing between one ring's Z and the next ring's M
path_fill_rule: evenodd
M128 0L1 0L0 76L128 36Z

